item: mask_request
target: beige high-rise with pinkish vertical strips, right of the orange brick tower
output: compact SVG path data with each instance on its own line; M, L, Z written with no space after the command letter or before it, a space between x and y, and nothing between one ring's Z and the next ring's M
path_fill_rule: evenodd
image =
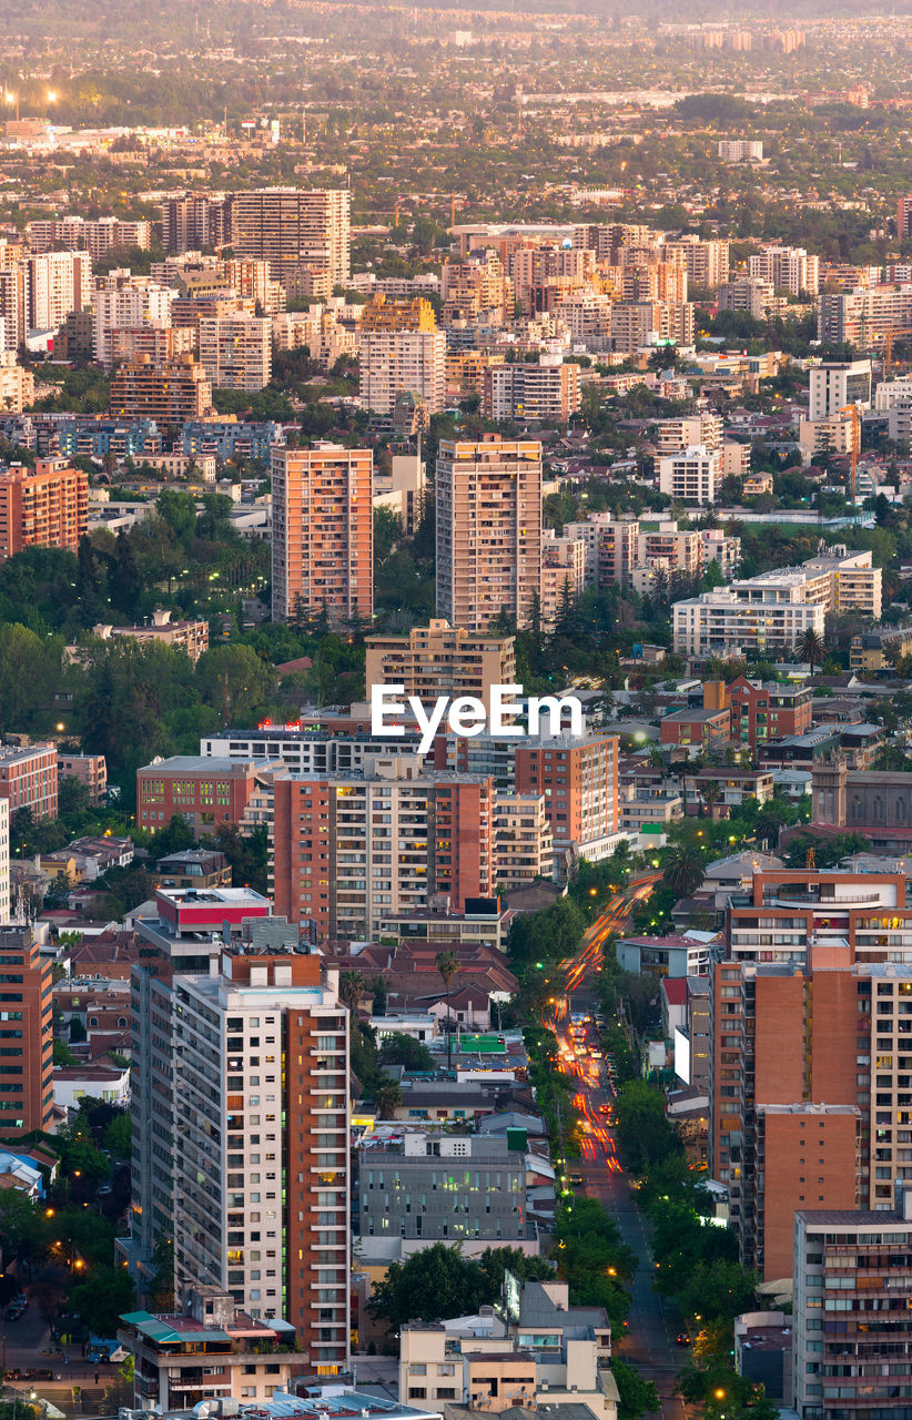
M541 608L541 443L446 439L438 456L438 615L487 630Z

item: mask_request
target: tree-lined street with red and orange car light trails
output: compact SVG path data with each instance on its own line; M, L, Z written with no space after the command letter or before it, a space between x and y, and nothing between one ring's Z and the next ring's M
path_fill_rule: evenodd
M652 1287L653 1262L646 1221L634 1203L631 1180L621 1166L614 1137L615 1096L609 1071L605 1061L592 1056L592 1051L599 1048L598 1034L592 1024L574 1020L574 1015L588 1014L592 1005L587 978L601 966L607 937L624 926L635 903L649 896L659 876L651 873L634 879L611 899L607 912L587 932L577 956L561 963L567 993L554 998L544 1024L557 1035L561 1071L572 1076L578 1086L574 1109L582 1119L584 1140L582 1159L572 1172L582 1176L587 1194L604 1204L624 1241L639 1258L631 1288L629 1329L618 1348L619 1353L636 1366L644 1379L653 1382L663 1420L683 1420L686 1406L673 1394L675 1376L688 1356L675 1340L683 1323L675 1304L659 1296ZM618 1345L618 1338L612 1345Z

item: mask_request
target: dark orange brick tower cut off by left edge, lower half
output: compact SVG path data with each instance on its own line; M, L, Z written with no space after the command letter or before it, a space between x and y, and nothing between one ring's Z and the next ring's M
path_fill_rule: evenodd
M0 927L0 1129L50 1129L54 1106L51 963L30 927Z

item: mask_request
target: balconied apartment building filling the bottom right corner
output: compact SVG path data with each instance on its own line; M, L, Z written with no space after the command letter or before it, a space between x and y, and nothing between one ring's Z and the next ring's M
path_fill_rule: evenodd
M912 1414L912 1186L884 1210L800 1208L793 1402L801 1420Z

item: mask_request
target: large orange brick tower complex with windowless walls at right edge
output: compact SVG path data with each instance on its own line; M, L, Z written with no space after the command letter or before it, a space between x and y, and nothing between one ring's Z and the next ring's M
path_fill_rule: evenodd
M912 910L901 875L756 873L712 964L710 1172L744 1261L791 1275L800 1208L912 1177Z

